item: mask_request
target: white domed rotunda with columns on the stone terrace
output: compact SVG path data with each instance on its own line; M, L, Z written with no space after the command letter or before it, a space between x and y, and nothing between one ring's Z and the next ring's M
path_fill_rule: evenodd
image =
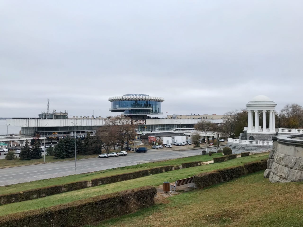
M246 131L247 140L271 140L271 136L276 134L275 131L275 104L265 95L258 95L246 104L248 118ZM266 113L269 114L266 114ZM262 123L259 122L260 114L263 116ZM269 116L267 127L266 115ZM255 119L255 124L253 124ZM260 125L261 124L261 125Z

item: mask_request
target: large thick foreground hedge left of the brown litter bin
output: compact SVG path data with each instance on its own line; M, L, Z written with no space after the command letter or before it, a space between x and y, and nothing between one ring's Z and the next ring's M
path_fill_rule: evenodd
M153 186L95 196L0 217L1 227L75 227L113 218L155 203Z

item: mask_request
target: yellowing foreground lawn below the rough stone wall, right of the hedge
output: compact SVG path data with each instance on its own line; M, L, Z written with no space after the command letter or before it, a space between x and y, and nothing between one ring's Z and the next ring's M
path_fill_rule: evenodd
M303 226L303 184L270 183L263 173L163 198L148 209L85 227Z

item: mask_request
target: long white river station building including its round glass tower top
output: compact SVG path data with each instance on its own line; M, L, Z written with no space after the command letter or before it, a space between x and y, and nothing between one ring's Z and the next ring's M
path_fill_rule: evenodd
M122 115L131 118L137 133L140 135L155 132L173 132L174 130L194 130L194 125L201 119L167 119L150 117L161 112L161 97L152 97L146 94L126 94L118 97L110 97L109 111L121 112ZM84 138L87 133L92 135L108 121L108 117L72 116L66 111L57 113L42 112L38 118L12 118L6 123L11 126L21 127L21 134L8 135L11 144L18 143L21 146L26 138L33 143L35 140L45 143L57 143L64 137L74 137L75 131L78 138ZM222 123L222 119L205 119L212 123ZM100 128L101 127L101 128ZM3 140L4 142L4 140ZM18 146L17 144L17 146Z

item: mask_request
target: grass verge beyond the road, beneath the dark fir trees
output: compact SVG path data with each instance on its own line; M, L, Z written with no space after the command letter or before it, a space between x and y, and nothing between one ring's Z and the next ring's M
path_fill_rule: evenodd
M77 154L77 160L78 159L85 159L85 158L95 158L98 155L80 155ZM58 161L70 161L75 160L75 158L65 158L65 159L54 159L54 156L47 156L45 155L45 163L50 162L58 162ZM28 165L34 165L34 164L42 164L44 163L44 156L40 159L32 159L32 160L20 160L19 157L17 157L15 160L6 160L1 159L0 160L0 169L7 168L7 167L16 167L16 166L28 166Z

